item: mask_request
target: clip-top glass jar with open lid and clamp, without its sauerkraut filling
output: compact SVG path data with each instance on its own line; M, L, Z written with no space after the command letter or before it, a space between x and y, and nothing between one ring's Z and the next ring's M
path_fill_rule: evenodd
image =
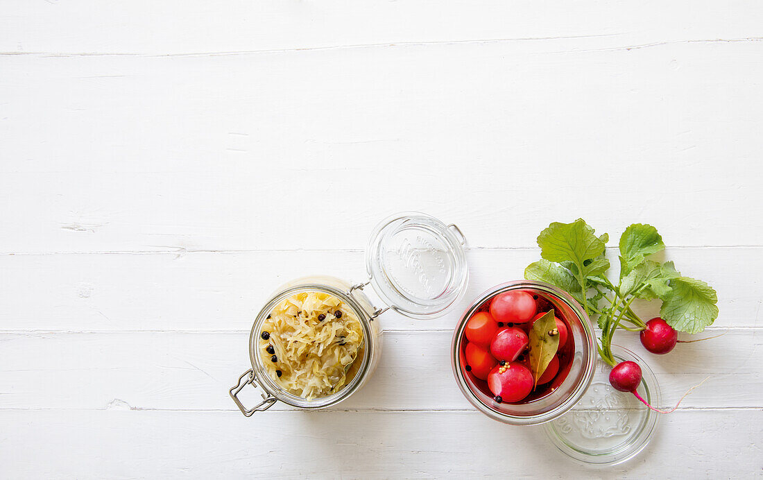
M464 253L465 237L459 227L446 225L434 217L417 212L395 214L373 230L365 251L369 279L359 284L330 276L314 276L288 282L266 302L259 311L250 333L249 350L252 368L244 372L230 397L241 413L250 417L265 411L276 401L296 408L325 408L348 398L371 377L381 356L381 330L377 317L391 309L407 317L428 319L440 317L462 298L468 283ZM388 305L374 308L363 288L372 285ZM278 384L266 371L258 354L262 324L273 309L285 298L304 292L322 292L345 304L359 319L363 346L354 362L360 362L352 379L330 395L304 398L294 395ZM246 408L238 394L246 385L260 391L262 401Z

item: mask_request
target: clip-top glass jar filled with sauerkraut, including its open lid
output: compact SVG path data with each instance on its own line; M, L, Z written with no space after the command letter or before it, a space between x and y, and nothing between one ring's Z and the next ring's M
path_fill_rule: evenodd
M426 214L397 214L372 234L365 253L367 281L312 276L282 285L254 321L252 368L230 389L233 401L249 417L276 401L312 409L348 398L378 364L381 313L439 317L462 298L468 282L464 243L455 225ZM388 307L374 308L366 285ZM246 385L262 389L262 401L253 408L238 398Z

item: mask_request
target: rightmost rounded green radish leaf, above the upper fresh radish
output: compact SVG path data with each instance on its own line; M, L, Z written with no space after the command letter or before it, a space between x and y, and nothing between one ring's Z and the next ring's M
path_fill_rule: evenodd
M671 291L662 298L660 317L674 329L700 333L718 317L718 295L701 280L678 277L670 281Z

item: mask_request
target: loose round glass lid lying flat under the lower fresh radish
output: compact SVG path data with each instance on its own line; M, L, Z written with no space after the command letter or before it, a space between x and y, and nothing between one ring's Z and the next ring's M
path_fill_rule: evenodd
M635 353L613 345L617 362L630 360L642 369L639 395L659 405L657 378ZM615 465L645 448L657 426L658 414L636 397L615 390L609 382L610 366L601 359L588 391L568 413L544 425L546 434L563 453L581 462Z

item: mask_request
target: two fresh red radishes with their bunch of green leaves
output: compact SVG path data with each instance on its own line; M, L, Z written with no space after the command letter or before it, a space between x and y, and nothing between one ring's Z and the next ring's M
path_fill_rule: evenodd
M650 259L665 248L665 243L657 229L646 224L633 224L620 237L620 278L616 285L606 275L610 268L604 256L608 240L609 235L597 236L581 219L571 224L552 223L538 236L542 258L527 266L525 278L562 288L589 317L597 317L601 330L599 355L613 367L610 384L617 390L632 392L654 411L669 413L678 404L669 411L658 410L636 391L641 383L641 368L635 362L617 362L612 354L614 333L618 328L639 332L646 350L668 353L681 342L679 331L700 333L713 324L718 317L716 292L701 280L681 275L672 262ZM636 299L661 300L660 317L642 321L631 308Z

